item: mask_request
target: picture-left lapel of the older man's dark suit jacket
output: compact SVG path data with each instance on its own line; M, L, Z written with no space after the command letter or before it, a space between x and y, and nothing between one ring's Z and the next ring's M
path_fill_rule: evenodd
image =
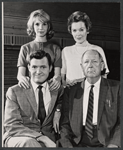
M83 121L83 92L84 82L78 83L70 90L70 120L73 131L79 136Z

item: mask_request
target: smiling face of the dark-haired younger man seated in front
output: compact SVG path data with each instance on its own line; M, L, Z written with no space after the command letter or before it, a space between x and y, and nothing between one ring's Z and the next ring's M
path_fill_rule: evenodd
M33 58L28 65L28 69L31 79L37 84L42 84L47 80L52 67L49 67L47 58L43 57L42 59Z

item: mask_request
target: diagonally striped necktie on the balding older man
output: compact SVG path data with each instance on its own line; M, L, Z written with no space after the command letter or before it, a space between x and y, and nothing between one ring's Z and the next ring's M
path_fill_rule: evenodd
M87 111L87 118L86 118L86 124L85 124L85 132L87 133L88 137L90 139L93 138L93 87L94 85L91 85L90 93L89 93L89 102L88 102L88 111Z

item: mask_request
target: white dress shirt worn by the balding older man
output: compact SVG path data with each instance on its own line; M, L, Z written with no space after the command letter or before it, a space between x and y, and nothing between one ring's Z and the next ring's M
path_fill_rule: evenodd
M93 84L94 85L93 125L97 125L100 82L101 82L101 77L95 84ZM84 96L83 96L83 125L85 125L86 122L89 92L90 92L91 85L92 84L90 84L87 80L85 80Z

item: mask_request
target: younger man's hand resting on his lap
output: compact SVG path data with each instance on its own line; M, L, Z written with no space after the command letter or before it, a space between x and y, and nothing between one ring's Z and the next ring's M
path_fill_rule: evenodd
M45 144L46 147L56 147L56 144L47 136L42 135L37 138L37 141L41 141Z

